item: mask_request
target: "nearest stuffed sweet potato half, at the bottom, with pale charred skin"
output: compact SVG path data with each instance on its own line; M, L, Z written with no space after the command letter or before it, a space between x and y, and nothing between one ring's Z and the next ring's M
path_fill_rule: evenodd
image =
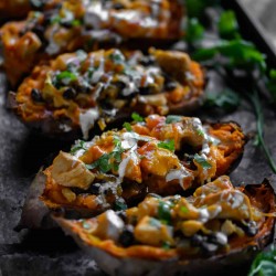
M233 188L223 176L189 198L150 194L117 213L56 221L108 275L222 275L272 241L275 194L268 181Z

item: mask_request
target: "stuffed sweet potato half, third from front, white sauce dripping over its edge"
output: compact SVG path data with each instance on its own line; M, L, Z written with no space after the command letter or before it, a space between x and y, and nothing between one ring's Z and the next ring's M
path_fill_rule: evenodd
M166 115L197 108L203 78L200 65L182 52L78 51L36 66L10 98L22 121L44 134L66 137L82 129L87 139L94 125L103 130L134 110Z

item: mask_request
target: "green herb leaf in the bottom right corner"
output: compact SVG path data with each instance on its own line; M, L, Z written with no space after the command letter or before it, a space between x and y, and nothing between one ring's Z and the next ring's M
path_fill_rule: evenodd
M254 259L248 276L275 276L276 250L274 246L268 252L259 253Z

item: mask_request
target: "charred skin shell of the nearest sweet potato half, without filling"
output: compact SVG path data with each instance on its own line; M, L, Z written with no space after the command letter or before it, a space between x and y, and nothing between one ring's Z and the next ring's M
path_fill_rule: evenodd
M259 205L265 204L265 212L275 212L275 192L269 181L265 179L262 184L252 184L241 188L251 199L251 202L259 200ZM262 195L263 193L263 195ZM259 197L262 199L259 199ZM210 256L208 258L179 259L172 251L163 251L163 254L156 250L156 257L152 259L150 251L140 251L136 256L125 254L124 248L117 247L110 241L100 242L91 240L82 232L74 222L62 217L54 217L60 226L74 237L76 243L89 254L99 265L99 267L108 275L160 275L167 272L168 275L184 274L184 275L212 275L225 274L226 268L231 272L235 267L247 267L254 256L262 251L274 238L275 217L267 217L258 234L252 240L246 241L242 246L236 246L229 253ZM102 247L103 246L103 247ZM113 247L115 246L115 247ZM151 252L152 253L152 252ZM141 254L141 257L137 256ZM145 255L144 255L145 254ZM148 257L147 257L148 254ZM151 257L149 257L151 256ZM106 264L109 265L106 265ZM232 275L231 273L226 275Z

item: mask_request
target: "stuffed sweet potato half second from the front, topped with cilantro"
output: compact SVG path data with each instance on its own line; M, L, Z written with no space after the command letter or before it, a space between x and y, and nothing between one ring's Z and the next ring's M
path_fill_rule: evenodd
M202 126L198 118L151 115L61 151L33 190L50 210L94 215L134 205L150 192L194 189L226 173L244 144L234 123Z

